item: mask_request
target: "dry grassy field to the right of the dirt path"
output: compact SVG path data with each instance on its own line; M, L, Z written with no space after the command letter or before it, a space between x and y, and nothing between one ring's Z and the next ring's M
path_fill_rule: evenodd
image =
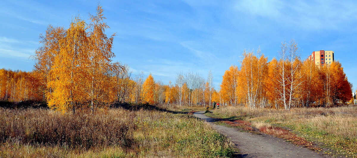
M245 120L265 133L274 132L269 131L274 127L288 127L297 136L317 143L320 148L327 148L321 152L335 157L357 157L357 106L293 108L290 111L229 106L208 114Z

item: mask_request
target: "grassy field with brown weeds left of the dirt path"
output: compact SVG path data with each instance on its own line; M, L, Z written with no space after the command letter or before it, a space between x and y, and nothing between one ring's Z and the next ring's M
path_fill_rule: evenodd
M187 114L110 109L62 114L0 108L0 157L231 157L234 148Z

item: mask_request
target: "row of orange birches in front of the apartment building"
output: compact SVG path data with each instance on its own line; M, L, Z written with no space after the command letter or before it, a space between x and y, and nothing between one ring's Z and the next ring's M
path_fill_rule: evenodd
M223 101L233 106L287 110L351 101L352 84L340 62L316 66L313 61L300 60L298 52L294 40L282 42L280 58L270 62L260 49L256 55L245 50L241 66L231 66L223 75Z

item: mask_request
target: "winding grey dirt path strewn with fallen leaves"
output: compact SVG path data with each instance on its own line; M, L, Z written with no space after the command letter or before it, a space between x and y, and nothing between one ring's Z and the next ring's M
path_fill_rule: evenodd
M197 118L209 122L218 132L225 135L231 142L236 144L240 151L237 157L243 158L324 158L315 151L304 147L297 147L292 143L285 142L284 139L276 138L268 134L255 134L240 132L237 128L230 128L222 125L215 125L213 122L218 119L205 116L205 111L193 113Z

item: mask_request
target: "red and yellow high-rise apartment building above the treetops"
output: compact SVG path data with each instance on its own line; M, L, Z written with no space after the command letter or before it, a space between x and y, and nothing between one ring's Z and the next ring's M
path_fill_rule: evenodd
M315 65L331 65L331 63L335 60L333 56L333 51L314 51L309 56L308 60L312 60L315 62Z

